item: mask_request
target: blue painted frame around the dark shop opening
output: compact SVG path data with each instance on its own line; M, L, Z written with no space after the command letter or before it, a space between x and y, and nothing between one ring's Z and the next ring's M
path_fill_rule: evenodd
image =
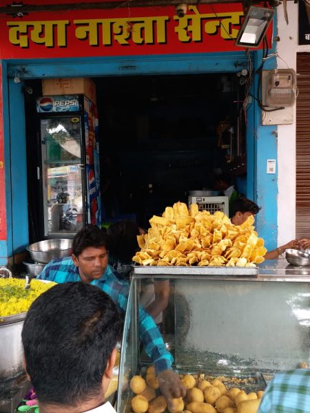
M255 52L255 67L260 65L259 52ZM48 59L8 61L8 76L12 79L17 70L21 78L128 76L141 74L196 74L238 72L247 62L245 52L205 55L134 56L89 59ZM257 81L257 79L256 79ZM276 176L267 176L267 158L276 159L275 127L259 127L260 109L255 101L249 105L249 120L253 128L247 131L248 179L247 196L264 208L258 214L257 230L266 240L267 248L276 246ZM12 246L14 251L28 243L27 185L25 157L25 111L21 86L10 80L10 147L17 156L12 158ZM12 125L14 123L14 125ZM254 133L255 131L255 133ZM6 138L6 144L8 138ZM9 170L6 169L6 173ZM15 216L16 214L16 216ZM9 225L9 222L8 222ZM11 250L9 251L9 253Z

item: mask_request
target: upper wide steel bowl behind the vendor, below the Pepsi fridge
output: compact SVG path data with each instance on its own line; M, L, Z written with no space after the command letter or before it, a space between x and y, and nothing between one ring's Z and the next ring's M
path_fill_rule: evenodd
M53 258L70 256L72 254L72 240L59 238L59 240L35 242L28 245L27 251L35 262L47 264Z

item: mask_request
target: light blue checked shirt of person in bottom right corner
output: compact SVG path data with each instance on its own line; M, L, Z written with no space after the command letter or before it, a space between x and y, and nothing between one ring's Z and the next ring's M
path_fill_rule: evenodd
M258 413L309 413L310 369L276 374L260 403Z

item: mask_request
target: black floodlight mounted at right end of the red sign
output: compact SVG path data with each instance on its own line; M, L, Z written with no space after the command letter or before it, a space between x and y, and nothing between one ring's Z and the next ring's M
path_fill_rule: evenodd
M251 6L236 39L236 46L258 47L273 18L274 10Z

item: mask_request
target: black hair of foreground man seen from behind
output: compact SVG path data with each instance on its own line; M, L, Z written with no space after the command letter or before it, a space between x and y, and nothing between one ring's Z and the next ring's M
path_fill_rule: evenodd
M68 282L40 295L21 333L39 402L76 406L98 395L120 332L116 305L95 286Z

